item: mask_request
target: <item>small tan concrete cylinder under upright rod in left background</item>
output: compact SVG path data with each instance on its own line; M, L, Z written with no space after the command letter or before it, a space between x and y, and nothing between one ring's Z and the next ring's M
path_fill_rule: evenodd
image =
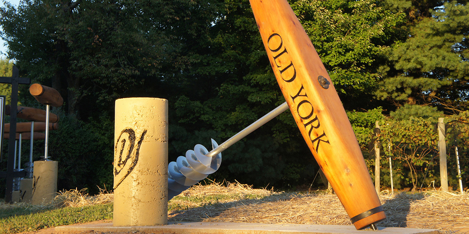
M57 161L35 161L31 204L39 205L54 199L57 192Z

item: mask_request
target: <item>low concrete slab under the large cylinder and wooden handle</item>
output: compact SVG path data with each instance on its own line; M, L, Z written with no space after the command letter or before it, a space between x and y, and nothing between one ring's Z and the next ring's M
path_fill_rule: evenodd
M55 234L65 233L152 233L152 234L364 234L370 229L358 231L354 226L306 225L306 224L253 224L181 222L163 226L114 227L112 223L81 224L55 227ZM378 227L379 234L439 234L433 229Z

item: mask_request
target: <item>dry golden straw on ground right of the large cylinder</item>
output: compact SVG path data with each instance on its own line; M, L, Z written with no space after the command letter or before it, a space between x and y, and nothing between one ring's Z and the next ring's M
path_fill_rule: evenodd
M236 186L242 187L245 185ZM184 195L191 200L204 198L217 190L229 192L219 184L196 185ZM250 188L252 189L252 188ZM248 189L246 189L248 190ZM216 203L190 204L187 209L169 212L170 222L248 222L289 223L320 225L352 225L335 194L285 193L252 190L265 197ZM242 191L237 192L242 196ZM200 193L200 194L199 194ZM267 195L270 193L270 195ZM388 216L379 223L381 227L410 227L438 229L442 233L469 233L468 193L456 194L441 191L425 193L380 194L380 200ZM177 202L177 201L170 201ZM200 206L200 207L197 207Z

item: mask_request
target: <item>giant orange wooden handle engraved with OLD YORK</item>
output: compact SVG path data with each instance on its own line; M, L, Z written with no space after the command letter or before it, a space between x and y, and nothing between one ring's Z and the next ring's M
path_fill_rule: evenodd
M287 0L250 0L277 82L356 229L386 219L334 85Z

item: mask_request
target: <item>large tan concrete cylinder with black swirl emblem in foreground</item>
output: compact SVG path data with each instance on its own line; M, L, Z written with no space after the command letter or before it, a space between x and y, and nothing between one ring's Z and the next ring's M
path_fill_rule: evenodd
M168 223L167 136L167 100L116 100L114 226Z

